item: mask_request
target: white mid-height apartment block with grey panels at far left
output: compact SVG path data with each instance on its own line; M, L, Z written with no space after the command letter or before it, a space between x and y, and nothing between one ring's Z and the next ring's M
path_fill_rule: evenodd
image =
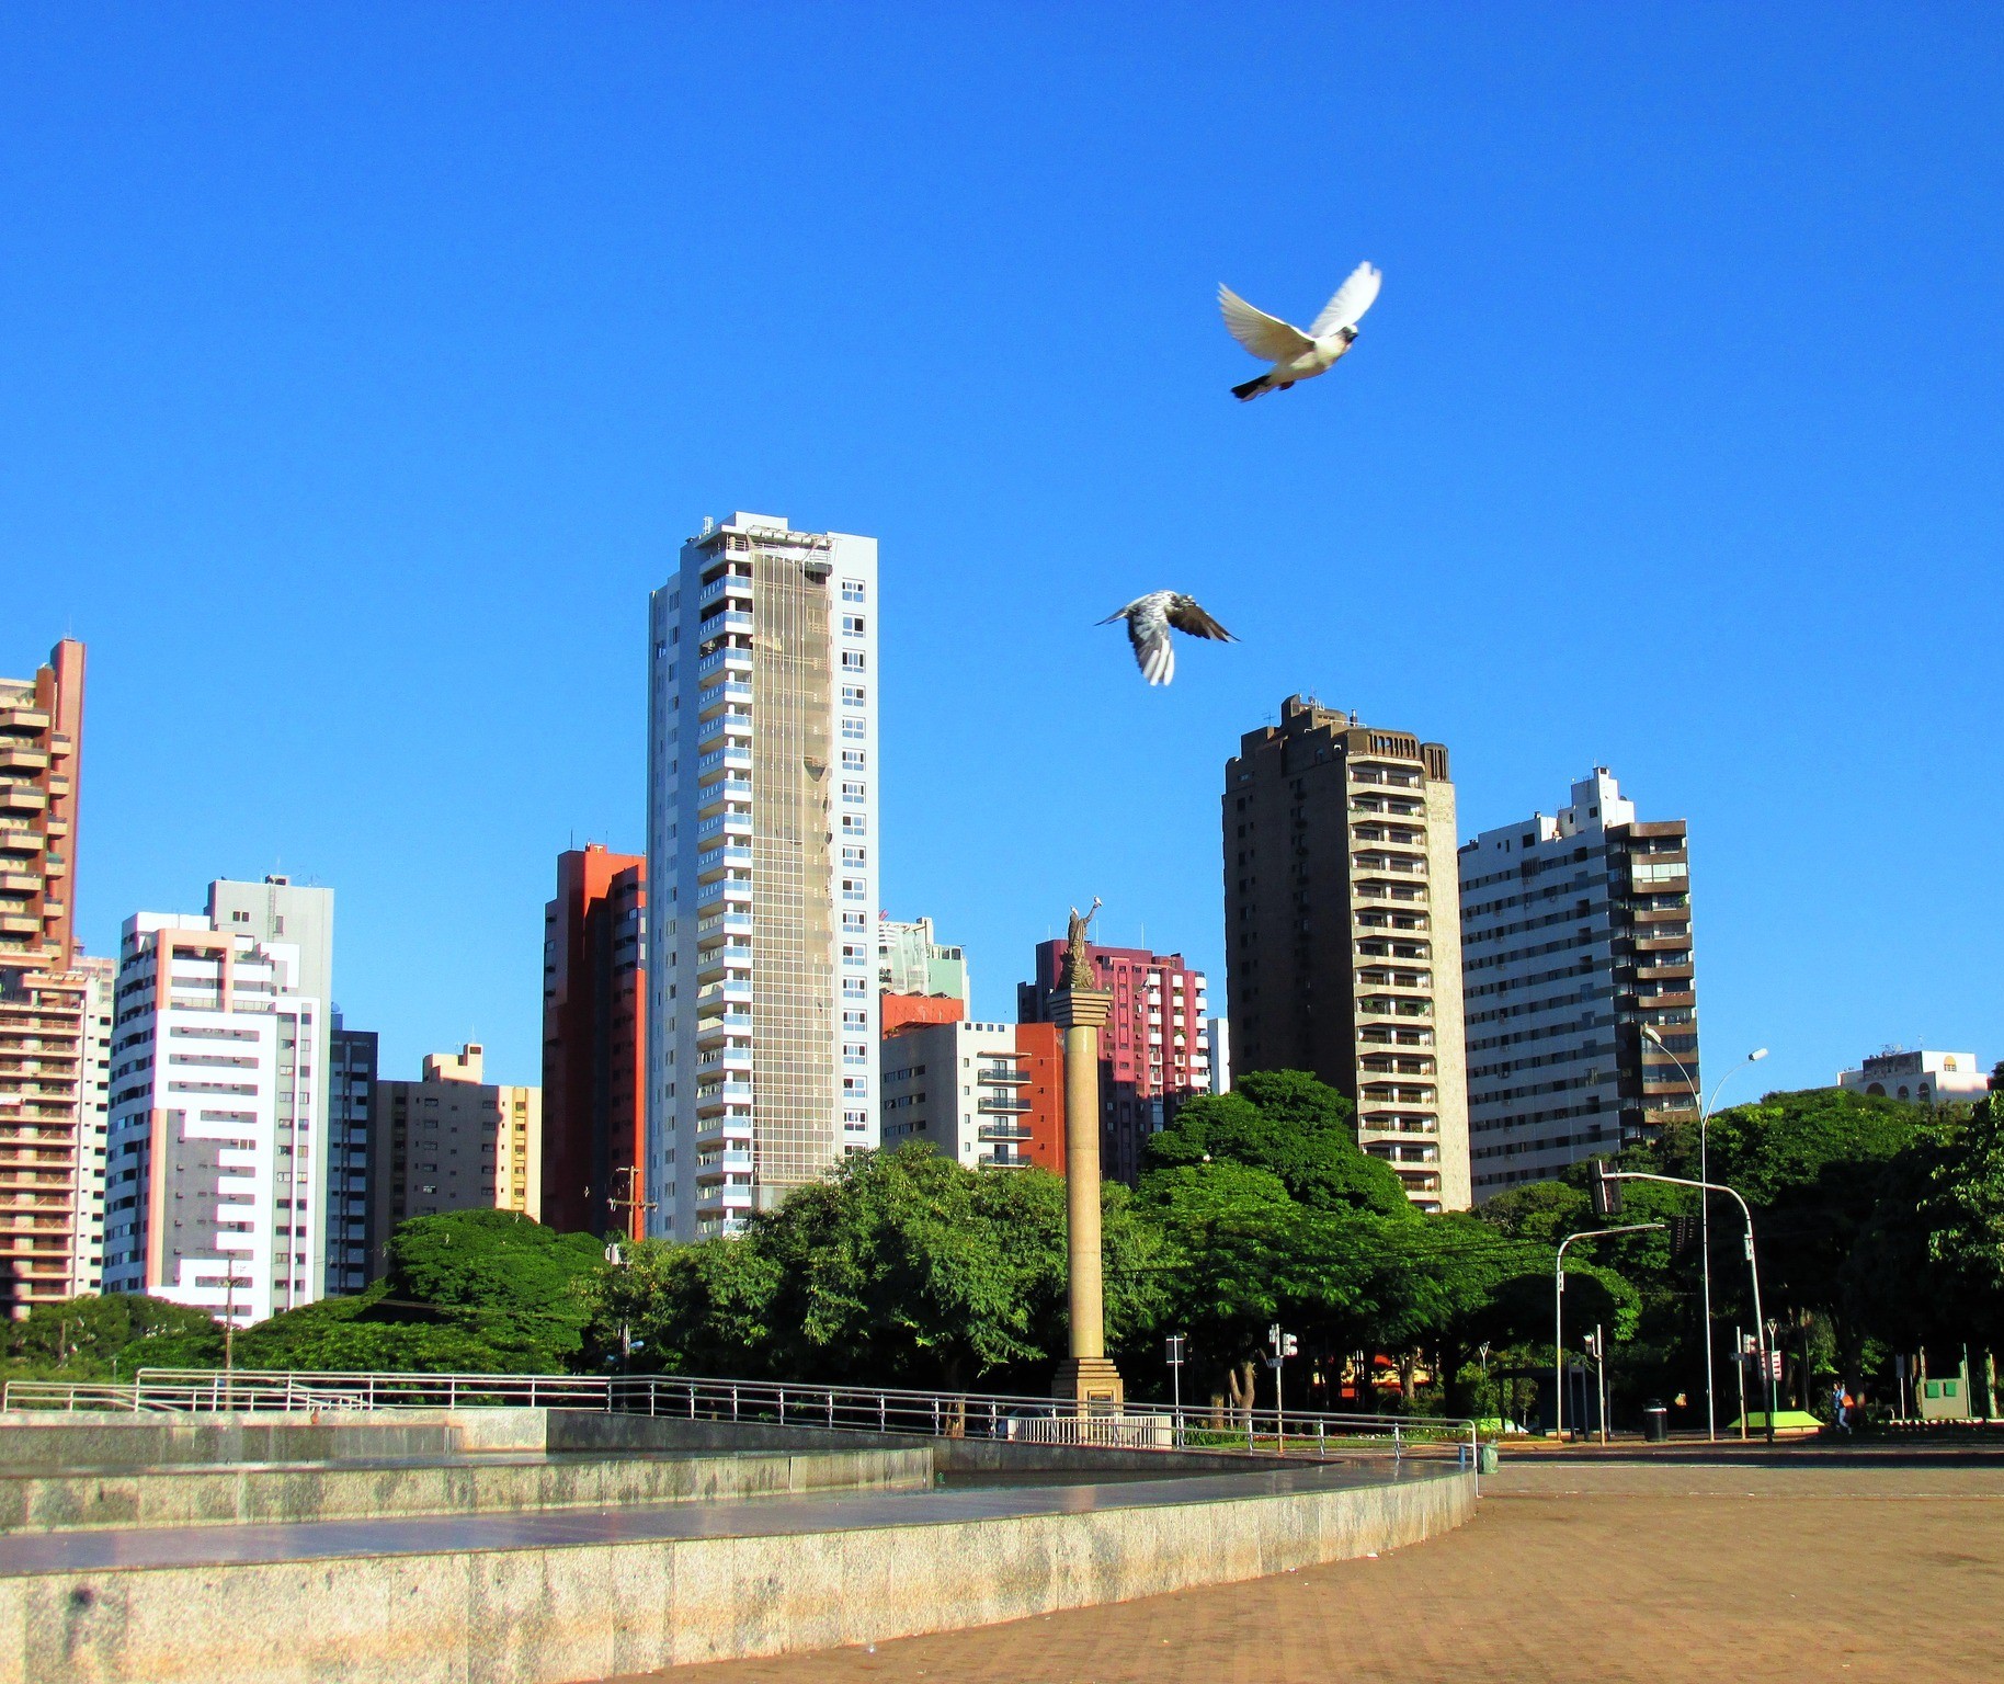
M228 896L210 890L212 906ZM174 912L124 922L104 1291L238 1325L321 1295L325 1002L301 946Z

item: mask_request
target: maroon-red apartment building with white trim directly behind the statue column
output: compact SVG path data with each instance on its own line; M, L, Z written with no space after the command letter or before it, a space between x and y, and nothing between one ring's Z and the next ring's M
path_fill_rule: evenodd
M1098 986L1114 996L1100 1030L1100 1173L1132 1187L1142 1147L1192 1093L1210 1093L1204 972L1180 952L1092 944ZM1016 1016L1050 1022L1064 942L1038 942L1036 980L1016 984Z

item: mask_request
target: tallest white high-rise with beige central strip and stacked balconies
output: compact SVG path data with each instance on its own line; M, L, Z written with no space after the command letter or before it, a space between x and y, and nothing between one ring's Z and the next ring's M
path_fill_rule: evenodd
M649 605L649 1231L878 1143L876 539L735 513Z

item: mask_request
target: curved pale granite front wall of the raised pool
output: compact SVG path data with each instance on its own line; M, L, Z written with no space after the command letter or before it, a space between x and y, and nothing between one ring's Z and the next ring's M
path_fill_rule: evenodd
M565 1684L1246 1580L1417 1544L1473 1508L1473 1476L1439 1474L854 1532L30 1574L0 1580L0 1684Z

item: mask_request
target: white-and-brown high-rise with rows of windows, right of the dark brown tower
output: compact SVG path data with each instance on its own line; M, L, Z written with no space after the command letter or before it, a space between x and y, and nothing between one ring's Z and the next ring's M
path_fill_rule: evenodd
M1605 766L1461 848L1477 1199L1695 1115L1689 858L1683 820L1637 820Z

